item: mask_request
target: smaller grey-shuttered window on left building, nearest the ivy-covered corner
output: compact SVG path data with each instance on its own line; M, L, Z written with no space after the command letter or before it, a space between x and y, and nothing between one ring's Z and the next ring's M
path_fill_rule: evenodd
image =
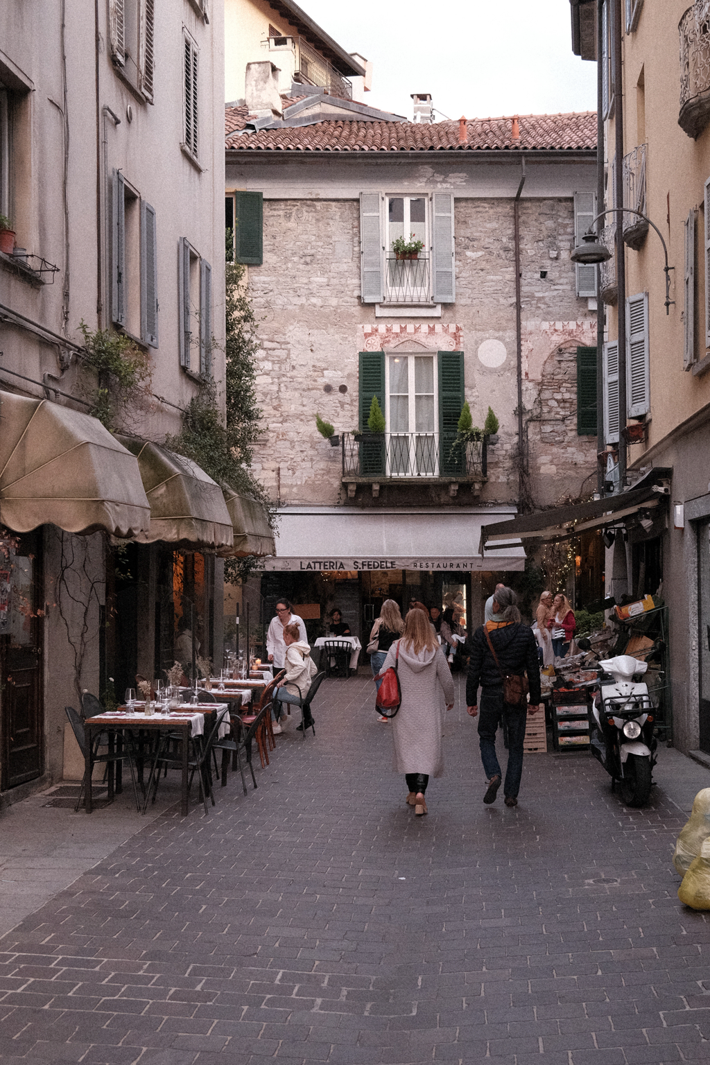
M212 266L181 236L178 247L180 365L209 377L212 373Z

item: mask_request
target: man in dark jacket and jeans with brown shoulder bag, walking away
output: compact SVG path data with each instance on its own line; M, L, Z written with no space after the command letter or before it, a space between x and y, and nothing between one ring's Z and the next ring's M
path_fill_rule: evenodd
M481 761L488 777L483 802L495 802L500 787L501 770L496 756L496 732L502 720L508 727L508 767L506 769L506 806L517 806L517 792L523 774L523 744L527 714L534 714L540 704L540 667L538 643L532 629L521 623L512 588L496 588L493 595L495 621L489 621L474 633L470 641L470 660L466 681L466 709L472 718L478 715L478 687L482 686L481 716L478 736ZM497 620L499 619L499 620ZM488 635L486 635L488 634ZM491 653L491 638L498 658ZM509 706L502 698L502 678L511 674L528 675L530 703L526 707ZM527 712L526 712L527 711Z

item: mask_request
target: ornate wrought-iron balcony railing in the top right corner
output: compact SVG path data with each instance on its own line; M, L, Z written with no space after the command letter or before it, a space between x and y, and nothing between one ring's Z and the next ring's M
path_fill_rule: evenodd
M697 137L710 120L710 0L696 0L678 24L680 112L678 125Z

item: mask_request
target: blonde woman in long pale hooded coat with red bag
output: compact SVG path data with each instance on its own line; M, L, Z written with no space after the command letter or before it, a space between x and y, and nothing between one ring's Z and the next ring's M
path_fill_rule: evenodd
M453 681L444 652L424 610L410 610L401 639L387 651L381 672L397 660L401 706L392 719L394 769L404 773L407 802L426 814L425 792L430 776L444 772L442 726L444 707L453 706Z

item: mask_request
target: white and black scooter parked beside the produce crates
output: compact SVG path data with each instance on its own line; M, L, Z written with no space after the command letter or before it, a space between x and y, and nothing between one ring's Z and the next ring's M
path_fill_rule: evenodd
M592 754L610 774L612 789L618 781L625 804L643 806L650 793L657 747L648 688L644 682L633 681L634 674L646 672L646 662L617 655L600 661L599 669Z

